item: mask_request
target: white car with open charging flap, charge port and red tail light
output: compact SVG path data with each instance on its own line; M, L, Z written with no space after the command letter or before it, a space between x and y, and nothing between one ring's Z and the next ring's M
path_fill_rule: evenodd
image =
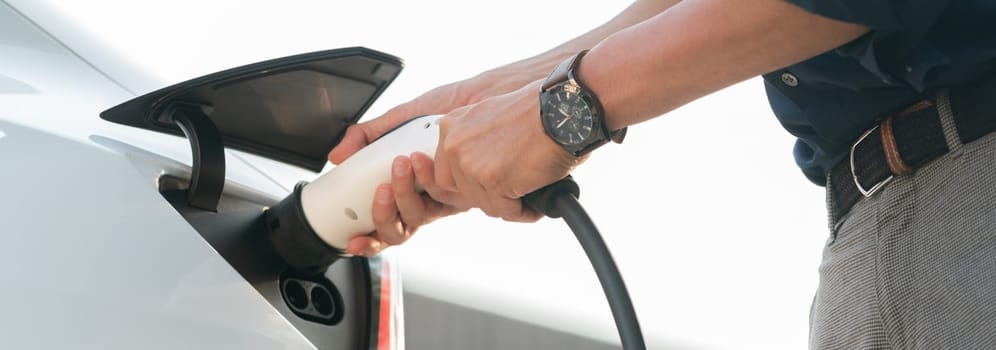
M403 348L391 258L288 269L264 211L291 189L246 160L317 172L400 60L329 50L136 97L5 3L0 57L0 348Z

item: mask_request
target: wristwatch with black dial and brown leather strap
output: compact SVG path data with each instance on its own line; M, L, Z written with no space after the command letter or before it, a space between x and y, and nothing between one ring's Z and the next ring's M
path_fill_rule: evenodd
M610 132L595 94L577 74L584 50L560 63L540 87L543 130L568 153L581 157L611 141L621 143L626 128Z

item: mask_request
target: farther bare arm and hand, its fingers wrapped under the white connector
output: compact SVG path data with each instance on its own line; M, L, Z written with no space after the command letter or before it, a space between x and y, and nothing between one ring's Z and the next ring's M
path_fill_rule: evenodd
M671 7L678 0L637 0L608 22L553 49L536 56L488 70L470 79L447 84L402 103L374 120L350 127L338 146L329 153L329 160L339 164L360 148L365 147L387 130L426 114L446 114L454 109L477 103L493 96L515 91L537 79L542 79L564 58L588 49L613 33L651 18ZM431 183L431 166L420 169L413 165L429 162L426 158L396 160L394 166L400 174L391 184L378 188L373 213L376 232L371 236L354 238L349 251L353 254L374 254L391 244L408 239L420 225L439 217L467 209L459 195L434 191L433 198L421 196L412 190L413 177L421 172L422 178ZM421 171L413 171L421 170ZM391 197L393 201L389 200ZM435 200L434 200L435 199ZM445 200L437 202L436 200ZM402 224L402 220L404 224Z

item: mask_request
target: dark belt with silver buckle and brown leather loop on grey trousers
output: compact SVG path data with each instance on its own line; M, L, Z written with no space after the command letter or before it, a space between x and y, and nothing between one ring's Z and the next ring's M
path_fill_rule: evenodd
M894 177L913 173L949 149L939 108L951 108L961 143L996 130L996 77L951 88L950 104L925 99L882 119L851 146L848 158L830 171L833 221Z

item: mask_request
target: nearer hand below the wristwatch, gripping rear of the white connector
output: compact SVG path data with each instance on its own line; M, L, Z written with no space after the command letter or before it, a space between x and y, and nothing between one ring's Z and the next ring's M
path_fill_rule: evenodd
M521 198L560 180L583 162L554 143L540 121L541 81L456 109L440 121L435 178L491 217L542 217Z

